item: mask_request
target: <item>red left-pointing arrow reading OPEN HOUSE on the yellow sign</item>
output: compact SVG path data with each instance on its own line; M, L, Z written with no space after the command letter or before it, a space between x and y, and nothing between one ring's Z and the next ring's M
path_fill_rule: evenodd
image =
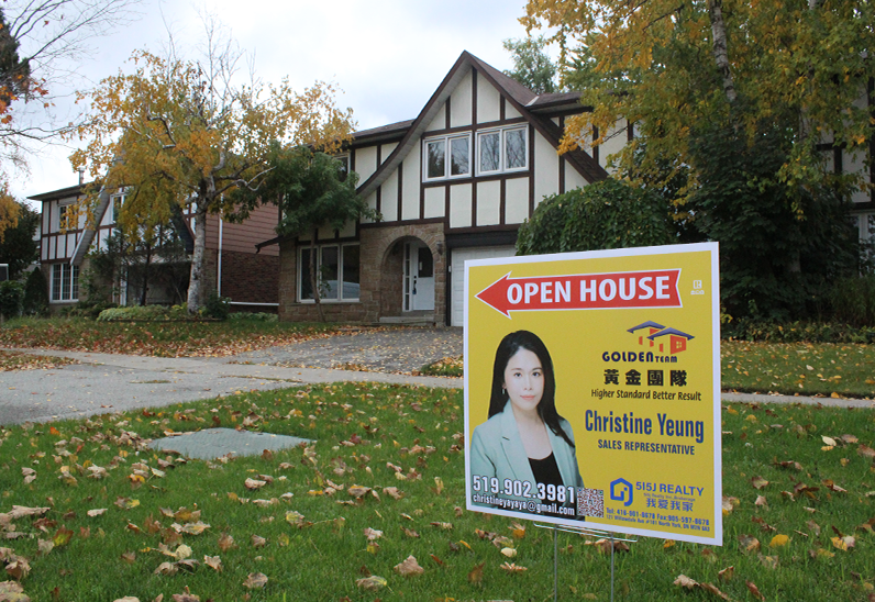
M682 308L679 269L511 278L476 294L507 317L511 311Z

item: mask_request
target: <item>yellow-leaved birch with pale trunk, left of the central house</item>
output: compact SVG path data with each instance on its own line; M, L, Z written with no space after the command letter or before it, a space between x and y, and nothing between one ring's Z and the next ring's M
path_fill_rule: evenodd
M241 53L219 43L214 30L208 34L202 60L137 52L132 74L103 79L90 94L92 121L79 130L90 142L71 157L97 182L88 194L92 209L101 187L130 188L118 220L128 232L166 223L174 205L192 216L192 313L202 302L207 215L232 212L234 190L258 190L274 141L332 149L352 130L352 111L334 105L330 85L299 93L287 79L236 85Z

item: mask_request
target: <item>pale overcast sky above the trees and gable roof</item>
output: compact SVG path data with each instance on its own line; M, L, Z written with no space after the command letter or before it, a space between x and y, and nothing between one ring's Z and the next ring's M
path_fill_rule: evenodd
M296 89L333 81L344 90L339 104L351 107L364 130L417 116L462 51L510 68L501 42L525 35L518 21L522 5L523 0L144 0L137 21L93 41L93 57L76 66L76 87L128 69L134 49L159 53L168 27L184 47L193 46L202 38L199 13L206 10L254 54L265 81L287 76ZM60 101L56 111L65 110ZM13 193L24 198L75 186L69 153L57 146L41 150L30 160L30 176L11 174Z

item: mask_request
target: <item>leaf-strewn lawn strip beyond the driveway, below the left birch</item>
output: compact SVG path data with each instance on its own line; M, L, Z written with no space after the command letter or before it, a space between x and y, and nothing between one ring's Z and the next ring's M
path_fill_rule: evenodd
M85 317L11 320L0 346L158 357L232 355L329 336L330 324L226 322L95 322Z

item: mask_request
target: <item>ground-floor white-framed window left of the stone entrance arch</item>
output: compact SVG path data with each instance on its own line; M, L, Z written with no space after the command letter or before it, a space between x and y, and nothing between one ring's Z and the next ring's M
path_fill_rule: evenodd
M315 247L319 298L322 301L358 301L358 244ZM307 303L314 298L310 282L309 247L301 248L298 266L298 299Z

